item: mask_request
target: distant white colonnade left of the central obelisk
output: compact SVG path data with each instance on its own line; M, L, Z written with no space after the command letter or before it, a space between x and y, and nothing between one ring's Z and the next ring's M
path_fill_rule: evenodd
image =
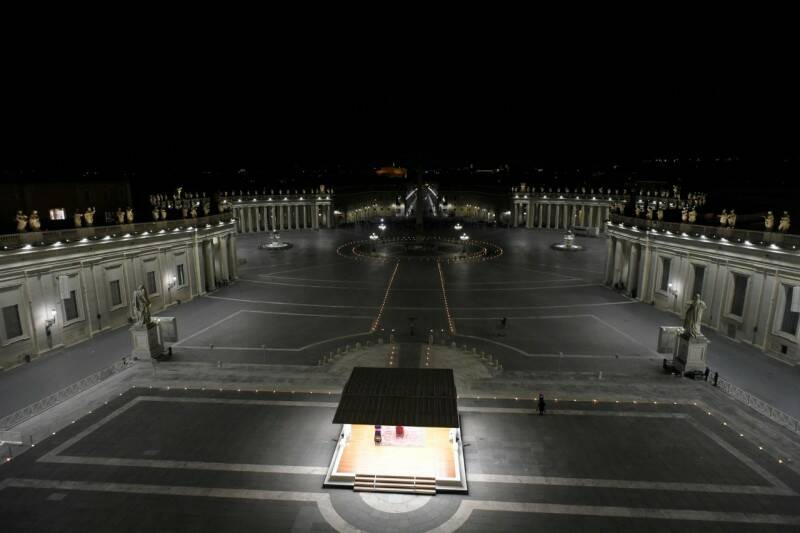
M233 214L239 233L333 227L333 208L330 203L236 204Z

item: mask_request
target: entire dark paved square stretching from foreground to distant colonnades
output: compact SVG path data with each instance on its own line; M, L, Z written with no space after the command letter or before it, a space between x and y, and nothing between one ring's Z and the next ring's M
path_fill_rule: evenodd
M658 326L680 319L602 285L603 239L567 253L556 232L468 228L502 254L337 253L369 231L286 233L285 251L241 236L237 282L163 313L171 362L21 428L36 446L0 467L3 531L800 529L796 435L661 371ZM800 414L797 368L706 333L721 376ZM469 494L323 489L349 369L383 366L389 340L417 366L431 334L432 365L455 369ZM123 328L0 375L0 416L129 351Z

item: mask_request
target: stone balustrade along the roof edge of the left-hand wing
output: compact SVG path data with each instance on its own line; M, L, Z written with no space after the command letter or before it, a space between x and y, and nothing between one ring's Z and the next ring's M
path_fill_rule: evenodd
M170 231L175 228L188 226L203 227L207 224L219 224L228 222L233 218L231 213L210 215L206 217L182 218L176 220L158 220L152 222L137 222L134 224L119 224L115 226L87 226L81 228L56 230L56 231L29 231L26 233L10 233L0 235L0 247L7 249L19 248L26 244L52 244L54 242L75 242L81 239L94 239L105 237L106 235L123 235L130 233L144 233L145 231L154 233L161 230Z

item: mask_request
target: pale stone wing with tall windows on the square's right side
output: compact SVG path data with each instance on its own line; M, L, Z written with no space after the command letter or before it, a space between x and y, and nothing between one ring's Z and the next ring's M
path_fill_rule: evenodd
M800 362L800 237L612 217L605 283L683 316L696 294L703 325Z

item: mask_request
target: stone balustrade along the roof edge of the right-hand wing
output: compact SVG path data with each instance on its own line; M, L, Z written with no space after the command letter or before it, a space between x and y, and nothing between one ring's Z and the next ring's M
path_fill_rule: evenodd
M635 227L642 231L656 230L672 232L677 235L686 233L689 237L705 237L707 239L727 239L732 243L752 244L775 244L783 248L796 250L800 247L800 235L781 233L779 231L753 231L735 228L723 228L721 226L701 226L699 224L684 224L682 222L663 222L658 220L648 220L646 218L627 217L618 214L611 215L613 224L624 224L625 226ZM794 247L794 248L793 248Z

